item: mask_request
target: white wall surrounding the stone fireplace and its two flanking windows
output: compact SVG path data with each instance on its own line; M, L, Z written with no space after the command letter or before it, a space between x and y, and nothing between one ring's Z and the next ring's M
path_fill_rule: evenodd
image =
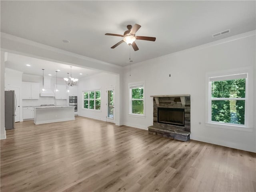
M246 37L248 36L248 37ZM255 107L249 118L253 118L252 132L209 127L206 116L206 73L233 68L252 67L255 88L255 31L226 38L217 42L191 48L160 58L155 58L125 68L123 83L124 124L147 129L153 124L153 99L150 95L191 95L192 140L256 152ZM171 74L171 77L169 77ZM128 115L128 83L145 82L145 118ZM255 106L255 89L250 105ZM202 124L199 124L202 122Z

